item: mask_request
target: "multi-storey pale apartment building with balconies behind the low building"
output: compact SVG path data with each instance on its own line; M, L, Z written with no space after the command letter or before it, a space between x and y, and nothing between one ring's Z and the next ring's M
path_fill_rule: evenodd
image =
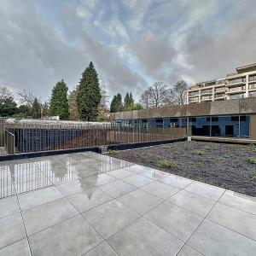
M201 82L189 87L187 102L215 102L256 96L256 63L236 67L236 73L223 79Z

